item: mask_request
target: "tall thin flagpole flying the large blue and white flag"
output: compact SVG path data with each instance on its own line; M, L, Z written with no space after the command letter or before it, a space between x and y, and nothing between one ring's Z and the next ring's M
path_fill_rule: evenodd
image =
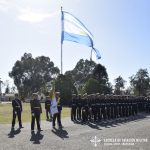
M63 8L61 6L61 74L63 74Z

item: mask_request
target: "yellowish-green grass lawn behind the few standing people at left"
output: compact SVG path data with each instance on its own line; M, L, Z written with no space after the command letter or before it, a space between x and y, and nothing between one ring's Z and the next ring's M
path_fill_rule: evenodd
M31 110L29 103L22 103L23 112L22 112L22 122L31 121ZM44 108L44 103L42 103L42 115L41 119L46 120L46 113ZM70 108L63 107L62 117L70 116ZM0 104L0 124L9 124L12 121L12 105L11 104Z

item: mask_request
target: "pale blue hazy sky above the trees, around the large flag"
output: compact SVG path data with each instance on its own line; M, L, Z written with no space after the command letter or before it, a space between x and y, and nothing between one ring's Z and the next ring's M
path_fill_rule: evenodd
M0 0L0 77L8 77L25 52L49 56L60 68L60 7L74 14L94 35L110 81L128 77L150 64L149 0ZM63 72L79 59L90 58L90 48L64 42Z

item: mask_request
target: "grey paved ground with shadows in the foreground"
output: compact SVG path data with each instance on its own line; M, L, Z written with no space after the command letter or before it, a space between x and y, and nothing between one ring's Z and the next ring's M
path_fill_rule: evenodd
M150 150L150 116L103 121L100 124L78 124L62 120L62 130L53 130L42 121L41 133L24 129L10 132L10 125L0 125L0 150ZM95 140L97 145L94 145Z

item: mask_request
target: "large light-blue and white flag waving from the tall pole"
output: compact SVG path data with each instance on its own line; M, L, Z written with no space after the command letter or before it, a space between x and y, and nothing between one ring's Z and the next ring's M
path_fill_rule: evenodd
M100 59L100 53L93 45L93 35L76 17L68 12L62 11L62 38L63 41L72 41L92 47L96 53L97 59Z

